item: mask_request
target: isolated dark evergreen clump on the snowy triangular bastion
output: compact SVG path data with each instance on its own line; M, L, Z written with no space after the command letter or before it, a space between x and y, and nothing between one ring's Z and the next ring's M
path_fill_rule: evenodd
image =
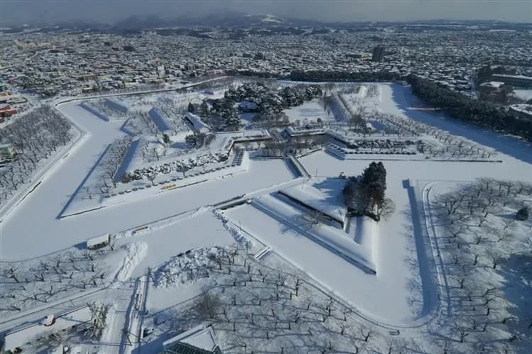
M380 220L385 210L386 169L382 162L371 162L361 176L349 177L343 188L348 211L355 216Z

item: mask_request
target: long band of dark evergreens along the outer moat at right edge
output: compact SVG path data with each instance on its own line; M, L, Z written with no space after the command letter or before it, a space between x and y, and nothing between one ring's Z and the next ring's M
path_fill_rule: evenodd
M412 92L423 101L442 108L453 118L490 128L494 131L519 135L532 141L532 121L526 121L511 111L505 111L489 102L470 99L450 89L438 86L427 79L407 77Z

